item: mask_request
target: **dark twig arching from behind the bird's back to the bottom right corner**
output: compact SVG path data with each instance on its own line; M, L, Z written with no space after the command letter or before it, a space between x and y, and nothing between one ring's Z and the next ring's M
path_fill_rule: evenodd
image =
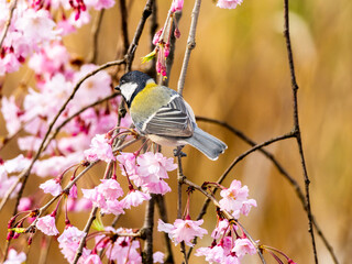
M230 130L232 133L234 133L237 136L239 136L240 139L242 139L244 142L246 142L248 144L250 144L251 146L256 145L256 143L254 141L252 141L250 138L248 138L243 132L241 132L240 130L233 128L232 125L228 124L227 122L223 121L219 121L217 119L210 119L210 118L205 118L205 117L196 117L197 121L204 121L204 122L210 122L210 123L216 123L219 125L222 125L224 128L227 128L228 130ZM289 184L294 187L296 195L298 197L298 199L300 200L304 209L307 211L307 204L306 204L306 198L304 195L304 191L301 190L300 186L298 185L297 180L292 177L286 169L280 165L280 163L274 157L274 155L267 151L265 151L264 148L260 148L258 150L261 153L263 153L268 160L272 161L272 163L275 165L275 167L277 168L277 170L289 182ZM206 212L205 208L202 208L201 212ZM199 215L198 219L202 218L202 213ZM338 257L333 252L333 248L330 244L330 242L328 241L328 239L326 238L326 235L322 232L322 229L319 227L317 220L315 219L315 216L312 215L312 223L317 230L318 235L321 238L324 246L327 248L327 250L329 251L333 263L339 264ZM190 252L188 252L189 254ZM189 256L188 256L189 257Z

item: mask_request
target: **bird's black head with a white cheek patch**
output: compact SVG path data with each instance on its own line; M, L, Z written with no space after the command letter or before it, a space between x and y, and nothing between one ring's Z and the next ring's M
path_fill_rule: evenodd
M120 78L120 85L116 87L121 91L128 107L131 107L133 98L144 89L148 81L154 81L147 74L139 70L129 72Z

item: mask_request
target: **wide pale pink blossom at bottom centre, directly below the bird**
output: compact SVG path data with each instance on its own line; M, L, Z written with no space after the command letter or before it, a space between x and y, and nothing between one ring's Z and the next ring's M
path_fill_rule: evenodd
M168 238L177 245L179 242L185 241L189 246L194 246L190 242L195 237L202 238L208 231L200 228L204 220L198 221L176 219L174 224L164 223L161 219L158 220L157 231L165 232Z

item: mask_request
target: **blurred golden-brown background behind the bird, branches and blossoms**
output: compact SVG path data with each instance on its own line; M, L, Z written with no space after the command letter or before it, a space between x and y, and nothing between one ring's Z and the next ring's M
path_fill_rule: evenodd
M169 1L157 1L158 22L165 21ZM176 43L175 63L169 87L177 87L187 42L193 1L185 1L179 22L182 37ZM143 1L131 1L129 15L130 38L140 20ZM92 13L97 15L97 13ZM352 3L350 1L302 1L290 3L290 25L294 59L299 85L299 118L308 174L311 180L311 208L317 222L332 244L341 263L352 257ZM184 91L185 99L197 116L226 121L256 142L282 135L293 128L293 100L290 77L283 36L283 1L244 0L235 10L221 10L212 1L204 1L197 28L196 48L191 53ZM77 34L65 38L69 51L78 57L88 56L91 24ZM134 61L134 68L145 67L140 57L148 53L150 36L142 35ZM112 61L120 40L119 4L107 10L98 43L98 64ZM3 94L9 95L22 79L25 69L9 75ZM1 120L3 122L3 120ZM228 130L205 122L204 130L227 142L228 151L217 162L211 162L197 151L186 147L185 175L198 185L215 182L229 164L250 148ZM1 134L6 133L3 125ZM271 151L287 172L302 185L302 170L294 139L277 142ZM0 153L12 157L18 148L14 143ZM164 148L172 155L172 150ZM103 169L103 168L101 168ZM95 170L96 172L96 170ZM97 180L91 173L91 180ZM94 179L95 178L95 179ZM250 188L250 196L257 200L257 208L241 219L253 238L262 243L283 250L297 263L314 263L308 221L293 187L273 164L261 153L248 156L230 173L224 185L241 179ZM34 179L26 194L36 190L43 179ZM170 174L173 193L166 195L168 218L176 218L176 174ZM196 218L204 197L191 198L191 217ZM13 202L0 215L3 249L3 227L11 216ZM205 227L210 232L215 226L213 207L206 216ZM144 208L128 212L121 226L138 228L143 222ZM73 222L85 226L86 215L73 216ZM157 219L157 217L156 217ZM105 222L111 221L106 218ZM63 221L62 221L63 222ZM63 226L59 226L63 229ZM163 241L156 234L155 248L163 250ZM321 239L316 235L320 263L332 263ZM53 241L53 243L56 243ZM204 239L200 244L209 245ZM34 241L29 263L36 263L41 241ZM24 245L25 246L25 245ZM178 254L178 246L174 248ZM54 248L48 252L50 263L63 263L61 253ZM267 263L275 263L266 255ZM176 263L180 263L177 258ZM244 263L258 263L256 256ZM193 257L190 263L204 263Z

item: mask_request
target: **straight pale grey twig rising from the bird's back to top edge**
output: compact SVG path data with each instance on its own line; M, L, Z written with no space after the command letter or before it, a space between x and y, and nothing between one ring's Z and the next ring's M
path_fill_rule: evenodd
M191 12L191 22L190 22L189 35L187 40L187 47L185 52L184 64L183 64L183 67L179 74L178 84L177 84L177 91L179 95L183 95L184 92L184 86L186 81L186 73L188 69L190 52L196 47L196 29L197 29L198 15L200 10L200 3L201 3L201 0L196 0L194 10Z

